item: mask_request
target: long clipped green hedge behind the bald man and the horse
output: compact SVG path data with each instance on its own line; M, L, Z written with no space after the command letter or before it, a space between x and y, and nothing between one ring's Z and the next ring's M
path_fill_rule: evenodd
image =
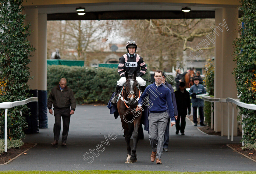
M143 78L149 79L149 76L147 71ZM47 67L48 95L61 78L67 79L67 86L74 92L77 104L108 104L120 76L116 68L51 65Z

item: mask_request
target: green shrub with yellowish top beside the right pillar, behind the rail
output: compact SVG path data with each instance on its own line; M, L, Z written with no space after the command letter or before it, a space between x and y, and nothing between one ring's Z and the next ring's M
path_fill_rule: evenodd
M209 95L214 95L214 60L208 59L207 63L205 65L205 77L204 77L204 84L206 87L206 92L209 93ZM208 123L208 125L211 124L211 114L214 112L211 107L214 105L213 102L204 101L204 117L205 121Z

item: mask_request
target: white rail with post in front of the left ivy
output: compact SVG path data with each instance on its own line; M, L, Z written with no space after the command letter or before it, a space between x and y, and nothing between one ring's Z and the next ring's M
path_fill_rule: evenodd
M31 97L26 100L21 101L13 101L13 102L3 102L0 103L0 108L5 109L5 152L7 152L7 112L9 108L13 108L15 106L21 106L26 105L29 102L32 101L38 101L37 97ZM22 112L20 112L20 115L22 115Z

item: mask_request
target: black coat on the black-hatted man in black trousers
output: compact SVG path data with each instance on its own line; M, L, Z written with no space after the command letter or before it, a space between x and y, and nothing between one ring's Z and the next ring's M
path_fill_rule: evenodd
M178 114L187 115L187 109L188 112L191 112L189 92L186 89L184 89L184 92L182 93L179 88L177 91L174 92L174 94L176 97Z

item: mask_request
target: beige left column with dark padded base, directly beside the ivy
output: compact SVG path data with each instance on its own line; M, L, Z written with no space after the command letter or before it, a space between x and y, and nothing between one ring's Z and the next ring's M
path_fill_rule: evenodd
M28 37L30 44L36 48L35 52L30 57L30 64L28 64L30 68L30 76L33 79L28 81L28 85L30 86L30 97L38 97L38 88L37 88L37 26L38 26L38 12L37 9L25 9L24 14L26 14L26 21L30 22L30 30L31 35ZM30 102L27 104L28 108L30 108L29 112L31 115L28 116L26 114L26 120L28 123L28 128L25 130L25 133L38 133L39 132L39 122L38 122L38 102Z

